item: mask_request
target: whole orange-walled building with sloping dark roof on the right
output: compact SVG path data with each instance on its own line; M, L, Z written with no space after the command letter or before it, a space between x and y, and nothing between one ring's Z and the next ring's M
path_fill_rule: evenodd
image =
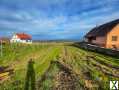
M85 41L105 48L119 48L119 19L93 28L85 35Z

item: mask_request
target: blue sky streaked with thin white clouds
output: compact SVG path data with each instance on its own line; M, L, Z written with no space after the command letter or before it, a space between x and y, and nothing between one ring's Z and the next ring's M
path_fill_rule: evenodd
M119 19L119 0L0 0L0 37L80 40L95 26Z

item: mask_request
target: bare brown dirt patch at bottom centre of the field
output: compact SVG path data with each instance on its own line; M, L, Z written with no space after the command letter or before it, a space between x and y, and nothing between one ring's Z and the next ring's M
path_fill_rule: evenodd
M79 77L63 64L56 62L60 68L60 71L55 77L55 86L54 90L77 90L80 83L78 82Z

